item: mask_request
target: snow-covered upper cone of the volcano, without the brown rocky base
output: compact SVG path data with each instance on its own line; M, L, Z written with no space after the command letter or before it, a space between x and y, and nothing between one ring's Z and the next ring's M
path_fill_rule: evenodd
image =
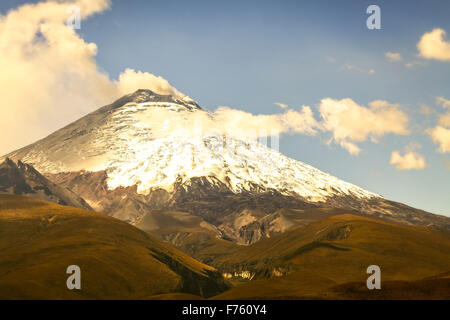
M199 130L204 119L214 121L188 97L138 90L9 157L44 173L104 170L109 189L136 185L140 194L171 191L179 179L215 177L234 193L257 186L312 202L377 196L258 141Z

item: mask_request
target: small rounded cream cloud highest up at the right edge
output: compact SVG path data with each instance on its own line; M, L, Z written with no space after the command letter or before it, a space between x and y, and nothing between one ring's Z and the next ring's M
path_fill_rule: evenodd
M419 55L425 59L450 60L450 42L445 40L446 32L436 28L425 33L417 43Z

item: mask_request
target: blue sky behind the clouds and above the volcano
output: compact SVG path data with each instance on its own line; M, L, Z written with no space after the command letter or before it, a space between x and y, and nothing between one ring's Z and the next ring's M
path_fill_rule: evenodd
M3 0L0 12L21 3ZM366 28L371 4L381 8L381 30ZM113 0L110 10L82 21L79 34L97 44L97 63L111 78L126 68L147 71L208 110L225 105L270 114L280 112L275 102L281 102L309 105L318 115L327 97L399 104L411 134L361 142L358 156L327 145L326 135L285 135L280 151L389 199L450 216L450 154L438 152L424 132L444 112L436 97L450 99L450 61L423 59L416 48L435 28L450 33L449 13L449 1ZM386 52L403 60L390 62ZM417 65L405 66L412 62ZM436 113L421 114L421 104ZM396 170L391 152L411 143L422 146L417 152L427 167Z

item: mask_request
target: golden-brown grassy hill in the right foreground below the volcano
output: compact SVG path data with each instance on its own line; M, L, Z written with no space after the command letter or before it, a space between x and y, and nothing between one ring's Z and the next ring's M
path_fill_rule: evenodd
M344 214L228 252L211 263L255 277L217 299L450 298L442 276L450 271L450 236L427 227ZM373 264L381 268L379 292L366 288Z

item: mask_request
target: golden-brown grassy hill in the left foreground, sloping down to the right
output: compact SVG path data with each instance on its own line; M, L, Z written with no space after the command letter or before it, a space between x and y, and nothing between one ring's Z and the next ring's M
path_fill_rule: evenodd
M81 268L68 290L66 268ZM0 195L0 299L142 299L215 295L214 268L103 214Z

